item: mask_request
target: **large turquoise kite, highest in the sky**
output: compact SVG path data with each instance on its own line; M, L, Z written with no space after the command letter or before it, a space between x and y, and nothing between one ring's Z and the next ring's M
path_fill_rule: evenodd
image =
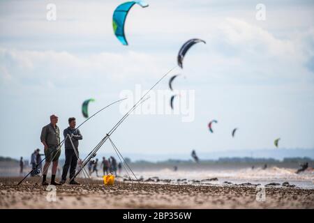
M145 8L149 6L144 1L127 1L125 3L121 3L115 10L112 16L112 26L114 29L114 35L117 36L118 40L123 45L128 45L128 41L126 40L126 36L124 33L124 24L126 22L126 16L128 15L128 11L132 8L135 4L142 6Z

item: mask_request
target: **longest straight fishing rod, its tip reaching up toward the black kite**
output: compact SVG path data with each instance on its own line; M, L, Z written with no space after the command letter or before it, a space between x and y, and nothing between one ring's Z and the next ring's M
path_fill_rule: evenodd
M147 91L146 93L144 93L144 95L142 95L142 98L140 98L140 100L138 100L135 105L133 105L133 107L126 112L126 114L124 114L124 116L117 122L116 125L114 125L114 127L105 135L105 137L103 137L103 139L100 140L100 142L98 143L98 145L91 151L91 153L89 153L89 155L87 155L87 157L85 157L84 162L83 162L83 167L89 162L89 160L91 160L92 157L96 156L96 152L100 149L101 146L103 146L103 144L105 143L105 141L107 141L107 139L111 136L111 134L117 130L117 128L119 127L119 125L121 125L121 123L123 123L123 121L130 115L131 112L134 111L134 109L137 107L137 105L139 105L141 103L141 101L144 99L144 97L152 90L154 89L154 87L161 82L170 72L172 72L172 70L174 70L175 68L177 68L177 66L175 66L174 68L171 68L170 70L168 70L165 75L163 75L163 77L161 77L160 79L158 79L158 82L156 82L153 86L151 86L151 88L149 89L149 91ZM147 100L147 99L145 99ZM75 174L75 176L73 176L73 178L71 178L70 180L73 180L77 174L80 173L80 171L82 170L79 169L79 171L77 171L77 173Z

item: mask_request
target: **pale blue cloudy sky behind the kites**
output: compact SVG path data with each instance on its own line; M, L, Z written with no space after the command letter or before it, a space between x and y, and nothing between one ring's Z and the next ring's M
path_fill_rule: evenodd
M123 2L0 1L0 155L29 157L43 148L40 131L51 114L63 130L70 116L85 120L81 106L88 98L96 100L89 105L93 114L126 92L149 89L177 65L190 38L206 44L193 46L184 69L170 72L153 94L165 94L169 113L168 80L180 74L174 105L192 92L192 121L183 114L130 115L112 134L122 154L260 151L275 149L279 137L280 148L314 148L313 1L147 0L149 7L136 5L128 14L128 46L112 30L113 11ZM48 3L57 7L56 20L47 20ZM258 3L265 20L256 18ZM157 100L152 95L142 105ZM82 153L110 131L125 106L112 105L82 126Z

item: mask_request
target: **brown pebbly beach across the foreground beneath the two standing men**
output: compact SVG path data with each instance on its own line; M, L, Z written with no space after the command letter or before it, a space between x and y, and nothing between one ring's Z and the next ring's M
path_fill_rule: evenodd
M314 208L314 190L266 187L256 201L256 185L174 185L100 180L57 186L56 199L39 185L40 178L0 178L0 208ZM48 199L47 199L48 197ZM48 201L50 200L50 201Z

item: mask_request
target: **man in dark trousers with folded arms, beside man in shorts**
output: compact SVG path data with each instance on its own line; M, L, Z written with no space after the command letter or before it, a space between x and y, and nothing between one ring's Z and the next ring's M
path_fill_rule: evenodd
M64 143L64 147L66 148L65 149L66 162L63 165L63 171L62 171L62 177L61 177L60 183L61 184L66 183L66 175L68 175L68 169L70 168L69 184L80 185L80 183L77 183L75 181L74 176L75 176L75 169L77 166L77 154L79 154L78 152L79 140L82 140L83 137L80 130L75 129L76 121L74 117L68 118L68 125L69 125L68 128L63 130L63 137L64 139L66 139L66 142ZM70 137L70 139L68 137Z

